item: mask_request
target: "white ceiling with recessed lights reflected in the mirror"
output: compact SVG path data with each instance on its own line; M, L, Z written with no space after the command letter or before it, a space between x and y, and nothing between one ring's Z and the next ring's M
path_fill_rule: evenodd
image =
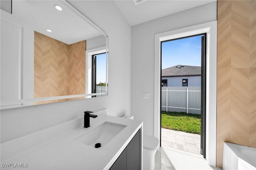
M63 10L56 10L55 4L62 6ZM28 22L35 31L66 44L102 35L63 0L15 0L12 1L12 16Z

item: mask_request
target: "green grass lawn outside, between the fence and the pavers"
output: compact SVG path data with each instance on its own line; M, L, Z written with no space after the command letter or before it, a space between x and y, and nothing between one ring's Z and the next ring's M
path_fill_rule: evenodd
M162 128L201 134L201 115L162 111Z

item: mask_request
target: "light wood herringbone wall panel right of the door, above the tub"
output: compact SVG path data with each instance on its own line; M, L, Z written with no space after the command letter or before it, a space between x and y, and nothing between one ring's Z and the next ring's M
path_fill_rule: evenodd
M256 147L256 1L218 1L217 167L223 142Z

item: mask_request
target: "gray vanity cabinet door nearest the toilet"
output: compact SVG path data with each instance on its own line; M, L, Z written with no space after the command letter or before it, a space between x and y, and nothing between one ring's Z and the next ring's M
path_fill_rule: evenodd
M140 170L140 130L132 138L127 148L127 170Z

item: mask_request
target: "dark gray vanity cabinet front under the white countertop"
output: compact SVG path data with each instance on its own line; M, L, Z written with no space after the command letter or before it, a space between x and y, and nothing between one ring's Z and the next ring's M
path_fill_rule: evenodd
M140 170L140 129L117 158L110 170Z

